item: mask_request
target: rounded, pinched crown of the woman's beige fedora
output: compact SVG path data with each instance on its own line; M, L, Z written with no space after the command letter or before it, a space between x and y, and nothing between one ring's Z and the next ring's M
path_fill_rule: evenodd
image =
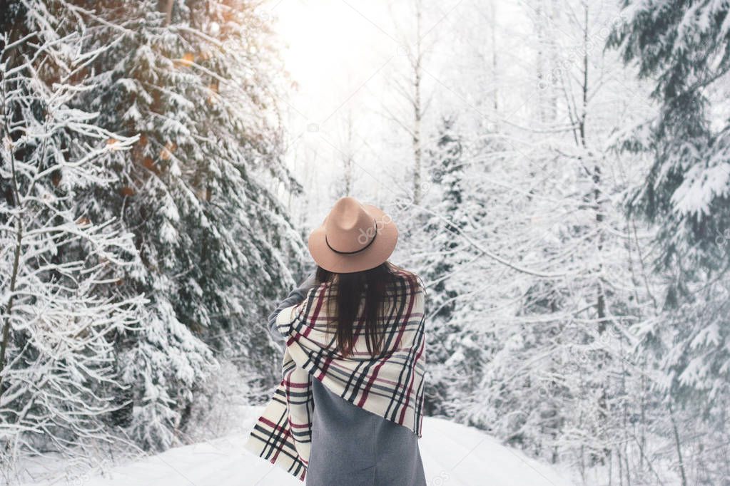
M326 242L334 251L362 250L377 232L377 224L354 197L341 197L324 221Z

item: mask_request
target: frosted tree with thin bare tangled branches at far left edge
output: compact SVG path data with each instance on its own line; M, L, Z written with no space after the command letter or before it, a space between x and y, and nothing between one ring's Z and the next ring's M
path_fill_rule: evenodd
M123 391L115 337L144 321L120 277L139 267L118 219L77 198L116 179L136 138L74 108L78 71L104 50L66 31L46 1L7 5L0 39L0 466L24 453L82 454L112 440ZM12 26L12 28L8 28ZM7 477L6 477L7 478Z

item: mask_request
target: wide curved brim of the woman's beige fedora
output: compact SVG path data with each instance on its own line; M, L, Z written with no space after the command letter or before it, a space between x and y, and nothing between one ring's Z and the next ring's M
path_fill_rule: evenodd
M388 214L370 204L363 204L365 211L375 220L377 235L370 246L356 254L343 255L332 251L325 241L324 223L310 233L307 246L315 262L334 273L353 273L370 270L388 260L398 242L398 227ZM326 221L326 219L325 219Z

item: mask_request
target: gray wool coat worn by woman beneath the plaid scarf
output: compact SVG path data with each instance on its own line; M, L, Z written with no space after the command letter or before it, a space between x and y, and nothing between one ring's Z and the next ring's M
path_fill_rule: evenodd
M277 342L278 313L296 305L315 285L312 273L269 315L269 332ZM312 378L314 416L307 486L426 486L418 436L330 391Z

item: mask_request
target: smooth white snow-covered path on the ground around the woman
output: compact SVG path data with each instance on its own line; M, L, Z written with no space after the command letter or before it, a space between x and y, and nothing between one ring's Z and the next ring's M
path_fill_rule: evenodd
M246 428L263 407L246 414ZM26 486L286 486L302 485L277 466L243 449L246 434L177 447L112 467L103 476L69 481L47 479ZM566 477L545 463L504 447L475 428L447 420L423 419L419 441L429 486L569 486Z

